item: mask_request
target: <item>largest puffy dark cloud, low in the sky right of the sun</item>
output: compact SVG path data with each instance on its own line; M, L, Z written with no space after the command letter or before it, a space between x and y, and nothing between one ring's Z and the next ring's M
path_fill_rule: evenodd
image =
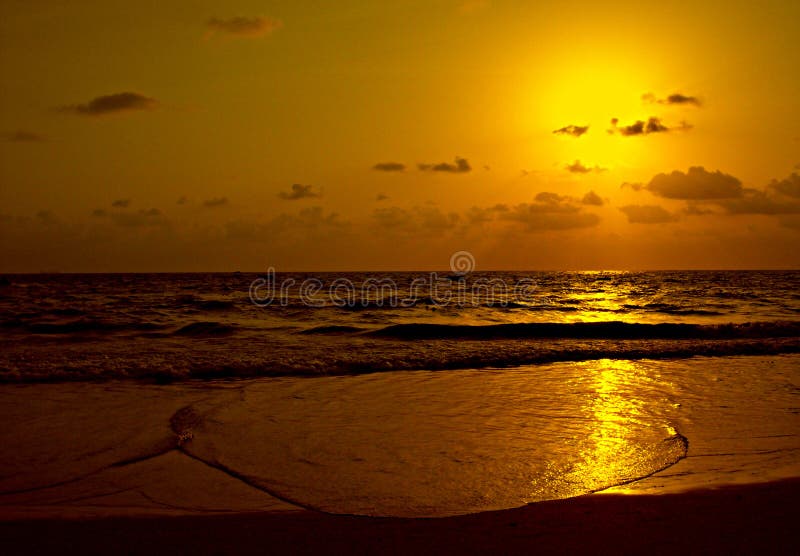
M719 170L708 172L702 166L693 166L685 174L677 170L671 174L657 174L646 189L666 199L731 199L741 197L742 182Z

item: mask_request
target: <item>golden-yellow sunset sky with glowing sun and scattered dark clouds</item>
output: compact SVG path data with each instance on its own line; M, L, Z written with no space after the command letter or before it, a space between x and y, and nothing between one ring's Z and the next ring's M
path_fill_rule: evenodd
M0 271L798 268L798 22L4 0Z

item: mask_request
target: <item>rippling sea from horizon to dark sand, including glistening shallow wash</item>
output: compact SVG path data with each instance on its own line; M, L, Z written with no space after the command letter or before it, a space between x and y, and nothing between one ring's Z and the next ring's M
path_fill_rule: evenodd
M800 272L2 284L0 514L441 516L800 476Z

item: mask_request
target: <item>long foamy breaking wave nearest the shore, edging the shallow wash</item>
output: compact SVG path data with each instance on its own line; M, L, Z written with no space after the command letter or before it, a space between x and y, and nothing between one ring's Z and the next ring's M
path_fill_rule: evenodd
M356 335L356 338L365 338ZM111 379L181 381L255 377L315 377L387 371L444 371L511 368L601 359L685 359L790 355L800 353L800 338L728 340L426 340L350 342L331 338L305 346L186 343L149 351L51 353L32 360L0 357L0 382L65 382ZM345 342L345 345L337 345ZM76 348L77 349L77 348ZM79 353L79 356L76 354Z

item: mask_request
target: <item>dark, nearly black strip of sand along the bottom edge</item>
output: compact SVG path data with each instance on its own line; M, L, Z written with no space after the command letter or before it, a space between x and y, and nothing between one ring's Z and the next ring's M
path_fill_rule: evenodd
M800 479L682 494L597 494L438 519L314 512L0 523L4 554L787 553Z

